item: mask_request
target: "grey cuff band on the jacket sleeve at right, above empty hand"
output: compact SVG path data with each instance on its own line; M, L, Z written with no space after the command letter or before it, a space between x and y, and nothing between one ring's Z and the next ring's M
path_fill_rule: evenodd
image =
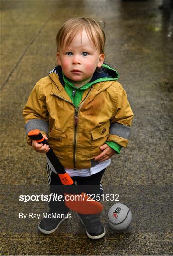
M110 126L110 134L128 139L130 137L131 127L119 123L112 123Z

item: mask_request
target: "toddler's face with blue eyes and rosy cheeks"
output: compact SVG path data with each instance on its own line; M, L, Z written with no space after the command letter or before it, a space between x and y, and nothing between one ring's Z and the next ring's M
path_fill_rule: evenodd
M104 61L104 54L92 45L85 30L73 38L70 45L57 53L58 64L62 67L64 75L80 87L89 82L96 68L100 68Z

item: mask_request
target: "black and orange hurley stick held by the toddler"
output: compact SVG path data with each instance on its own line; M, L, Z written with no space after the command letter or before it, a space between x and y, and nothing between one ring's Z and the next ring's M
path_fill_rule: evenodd
M28 133L28 137L38 143L48 144L48 142L42 136L40 130L32 130ZM76 186L69 176L65 172L63 165L60 163L59 159L55 155L54 151L50 148L46 153L51 164L54 166L61 183L64 185L64 196L65 205L80 214L97 214L103 210L103 206L100 202L91 199L84 192L82 192L78 186ZM75 199L75 200L74 200Z

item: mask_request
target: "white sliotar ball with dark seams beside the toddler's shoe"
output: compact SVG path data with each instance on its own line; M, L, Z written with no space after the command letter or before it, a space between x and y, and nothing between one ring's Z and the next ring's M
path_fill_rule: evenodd
M112 229L126 229L132 221L131 210L122 203L115 203L108 211L108 221Z

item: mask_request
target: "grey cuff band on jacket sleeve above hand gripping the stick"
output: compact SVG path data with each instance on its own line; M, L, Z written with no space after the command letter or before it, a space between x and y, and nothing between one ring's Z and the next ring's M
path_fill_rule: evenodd
M25 124L26 135L28 134L28 132L35 129L39 129L40 131L45 131L46 134L48 134L49 125L46 121L41 119L32 119Z

